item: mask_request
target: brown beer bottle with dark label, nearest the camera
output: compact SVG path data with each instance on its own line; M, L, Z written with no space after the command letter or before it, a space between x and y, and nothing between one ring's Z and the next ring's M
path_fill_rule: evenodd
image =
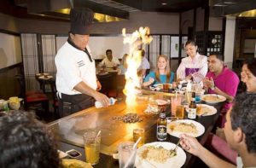
M159 141L165 141L167 139L166 113L160 113L160 117L157 119L156 137Z

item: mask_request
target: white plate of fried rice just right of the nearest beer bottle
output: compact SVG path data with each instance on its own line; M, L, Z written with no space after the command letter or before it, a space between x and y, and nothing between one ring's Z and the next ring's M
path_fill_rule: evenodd
M205 127L191 119L180 119L172 121L167 125L167 133L171 136L180 137L182 134L190 136L201 136L205 132Z

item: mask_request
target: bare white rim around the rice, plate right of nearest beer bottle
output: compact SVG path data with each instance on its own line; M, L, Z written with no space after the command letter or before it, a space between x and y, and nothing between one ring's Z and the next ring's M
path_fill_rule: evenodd
M170 129L170 125L172 125L173 123L186 123L186 124L193 123L196 126L196 130L198 130L198 132L197 132L197 134L192 134L192 133L173 131ZM176 136L178 138L182 134L188 134L189 136L197 137L197 136L201 136L204 132L205 132L205 127L203 125L201 125L200 123L198 123L194 120L191 120L191 119L180 119L180 120L172 121L170 124L167 125L167 133L170 134L171 136Z

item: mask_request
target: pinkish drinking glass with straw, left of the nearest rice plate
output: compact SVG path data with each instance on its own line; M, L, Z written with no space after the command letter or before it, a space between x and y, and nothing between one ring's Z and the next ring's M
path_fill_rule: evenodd
M133 148L134 142L122 142L119 144L119 168L133 168L135 164L137 148Z

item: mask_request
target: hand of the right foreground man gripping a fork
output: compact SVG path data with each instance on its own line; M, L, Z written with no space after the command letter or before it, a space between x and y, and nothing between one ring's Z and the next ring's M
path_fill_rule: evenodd
M180 138L180 145L183 149L195 156L199 156L199 154L201 154L203 146L201 146L200 142L198 142L195 137L183 134Z

